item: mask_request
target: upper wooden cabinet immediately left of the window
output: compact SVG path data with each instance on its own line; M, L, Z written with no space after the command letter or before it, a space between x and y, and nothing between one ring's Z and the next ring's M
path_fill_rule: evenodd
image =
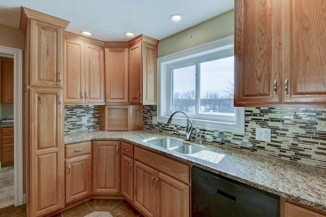
M140 35L129 44L129 103L156 105L158 41Z

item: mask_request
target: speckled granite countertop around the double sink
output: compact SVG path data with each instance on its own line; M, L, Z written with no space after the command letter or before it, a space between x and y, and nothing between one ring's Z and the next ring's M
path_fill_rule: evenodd
M326 168L220 145L204 144L205 150L182 154L144 142L161 137L173 136L150 131L93 131L65 135L65 144L89 140L122 140L326 211Z

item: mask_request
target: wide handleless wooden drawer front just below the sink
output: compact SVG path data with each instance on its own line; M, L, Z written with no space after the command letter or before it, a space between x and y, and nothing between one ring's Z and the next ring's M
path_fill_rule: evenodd
M190 183L190 166L175 160L160 156L145 149L134 147L134 159L148 166L175 177L185 183Z

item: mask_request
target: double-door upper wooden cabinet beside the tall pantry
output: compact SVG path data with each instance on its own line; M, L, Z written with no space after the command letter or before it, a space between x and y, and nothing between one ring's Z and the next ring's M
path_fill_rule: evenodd
M103 47L86 43L72 33L66 36L66 104L104 103Z

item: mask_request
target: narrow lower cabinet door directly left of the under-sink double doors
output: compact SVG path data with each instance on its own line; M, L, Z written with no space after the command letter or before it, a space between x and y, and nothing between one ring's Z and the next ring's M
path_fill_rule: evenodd
M122 166L121 166L121 172L122 172L122 180L121 180L121 188L122 188L122 194L125 196L125 198L132 202L132 187L133 187L133 172L132 172L132 164L133 160L132 158L129 158L125 155L122 156Z

